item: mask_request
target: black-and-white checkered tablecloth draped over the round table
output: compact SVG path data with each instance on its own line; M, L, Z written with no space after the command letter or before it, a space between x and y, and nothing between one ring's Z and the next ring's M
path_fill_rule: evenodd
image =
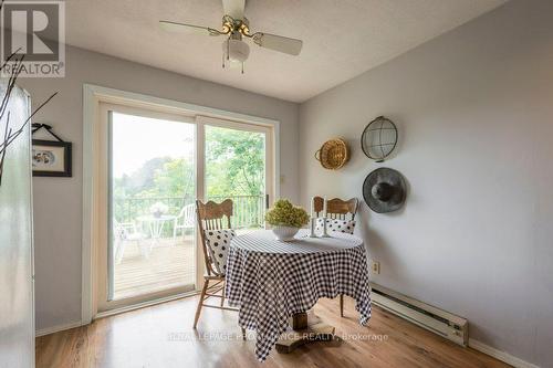
M363 241L333 232L332 238L280 242L270 230L232 240L227 263L227 297L240 309L238 323L255 330L255 355L264 360L289 318L311 309L321 297L348 295L361 324L371 318L371 286ZM336 312L337 313L337 312Z

